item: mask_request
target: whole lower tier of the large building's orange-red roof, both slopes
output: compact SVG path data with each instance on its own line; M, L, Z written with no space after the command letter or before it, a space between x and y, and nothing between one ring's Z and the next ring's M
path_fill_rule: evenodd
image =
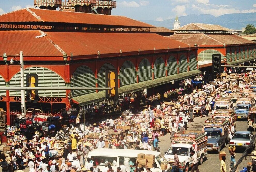
M189 45L154 33L85 33L85 32L46 32L41 31L0 31L0 54L18 54L25 57L55 56L64 53L78 55L167 50L189 48Z

